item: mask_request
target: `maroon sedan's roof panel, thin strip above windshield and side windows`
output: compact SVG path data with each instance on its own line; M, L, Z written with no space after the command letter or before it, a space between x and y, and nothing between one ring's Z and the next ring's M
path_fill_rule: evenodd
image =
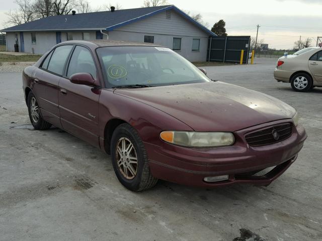
M143 43L143 42L131 42L121 40L70 40L62 42L61 44L82 44L88 47L111 47L111 46L152 46L152 47L164 47L158 44ZM167 48L167 47L166 47Z

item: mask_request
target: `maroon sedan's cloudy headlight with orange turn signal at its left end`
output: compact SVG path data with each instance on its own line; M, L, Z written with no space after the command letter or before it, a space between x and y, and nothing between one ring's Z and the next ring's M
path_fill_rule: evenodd
M184 147L222 147L235 142L230 132L166 131L160 133L160 138L165 142Z

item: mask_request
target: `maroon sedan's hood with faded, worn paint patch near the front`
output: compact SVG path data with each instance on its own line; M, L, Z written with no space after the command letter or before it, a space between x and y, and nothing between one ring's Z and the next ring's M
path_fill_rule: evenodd
M237 131L291 118L296 111L269 95L219 81L116 89L114 93L164 111L195 131Z

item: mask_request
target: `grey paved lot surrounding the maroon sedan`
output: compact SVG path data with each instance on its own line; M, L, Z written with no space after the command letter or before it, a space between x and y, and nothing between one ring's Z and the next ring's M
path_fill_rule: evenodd
M126 190L100 150L59 129L33 130L21 73L1 73L0 240L322 240L322 88L277 83L275 61L206 69L296 107L304 148L268 187L212 190L165 181Z

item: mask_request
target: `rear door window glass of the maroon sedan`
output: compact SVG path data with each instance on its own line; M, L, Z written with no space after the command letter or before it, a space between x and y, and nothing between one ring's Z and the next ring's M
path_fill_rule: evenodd
M73 45L63 45L57 47L50 58L47 70L55 74L62 75L66 60L72 47Z

